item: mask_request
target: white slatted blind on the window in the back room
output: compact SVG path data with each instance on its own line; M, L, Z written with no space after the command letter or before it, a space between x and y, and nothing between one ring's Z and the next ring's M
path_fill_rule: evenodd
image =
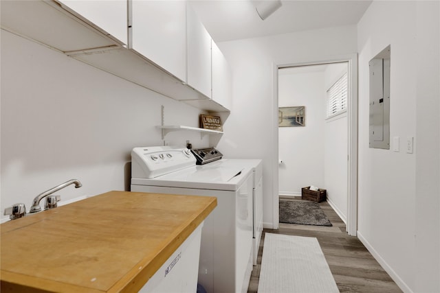
M347 73L327 90L327 118L347 110Z

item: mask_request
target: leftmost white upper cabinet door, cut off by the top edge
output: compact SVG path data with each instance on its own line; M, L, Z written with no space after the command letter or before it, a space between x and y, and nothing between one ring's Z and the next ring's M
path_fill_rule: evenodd
M127 0L58 0L114 38L127 44Z

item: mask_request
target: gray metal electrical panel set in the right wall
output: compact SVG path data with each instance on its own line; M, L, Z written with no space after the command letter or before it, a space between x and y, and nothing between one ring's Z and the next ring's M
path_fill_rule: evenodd
M390 67L390 46L369 62L370 148L390 149Z

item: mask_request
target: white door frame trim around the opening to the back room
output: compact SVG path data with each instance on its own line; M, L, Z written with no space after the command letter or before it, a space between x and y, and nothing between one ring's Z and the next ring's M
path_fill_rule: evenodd
M348 62L349 96L347 97L348 117L348 180L347 180L347 233L356 236L358 231L358 54L334 56L324 60L306 62L274 62L272 63L272 124L274 156L272 159L273 180L273 216L274 229L279 227L279 195L278 195L278 69L282 67L299 67L322 65L329 63Z

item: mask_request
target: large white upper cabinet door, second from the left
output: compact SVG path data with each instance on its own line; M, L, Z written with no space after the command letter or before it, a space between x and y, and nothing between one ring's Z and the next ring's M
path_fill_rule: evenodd
M186 1L131 2L130 49L186 82Z

